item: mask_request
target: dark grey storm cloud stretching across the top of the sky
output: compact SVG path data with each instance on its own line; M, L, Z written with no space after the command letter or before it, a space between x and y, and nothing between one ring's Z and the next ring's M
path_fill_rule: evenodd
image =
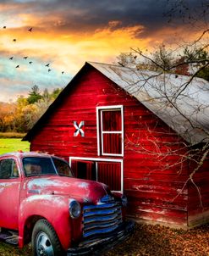
M110 20L121 21L118 26L144 25L144 36L168 25L183 23L184 14L200 13L206 0L14 0L0 3L19 4L19 11L40 17L40 25L60 31L95 31L106 27ZM16 12L16 10L15 10ZM45 19L41 19L45 17ZM48 17L48 19L47 19ZM54 22L57 18L58 21ZM52 22L53 20L53 22ZM116 29L118 27L115 27ZM143 36L140 34L140 36Z

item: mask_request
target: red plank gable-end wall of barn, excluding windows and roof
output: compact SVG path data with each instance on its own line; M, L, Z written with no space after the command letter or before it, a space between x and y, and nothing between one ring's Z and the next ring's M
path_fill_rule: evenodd
M134 97L94 69L89 68L71 86L69 96L33 137L30 149L67 160L69 156L96 158L96 106L124 105L124 158L116 159L124 159L129 216L187 225L188 190L184 182L188 163L178 156L185 153L179 150L179 137ZM82 120L85 136L74 137L73 122L79 124Z

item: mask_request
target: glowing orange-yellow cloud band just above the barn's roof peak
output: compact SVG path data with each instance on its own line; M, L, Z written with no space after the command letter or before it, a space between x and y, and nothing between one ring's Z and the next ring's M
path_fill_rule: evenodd
M183 26L176 28L162 27L149 36L143 36L143 25L120 27L118 20L109 21L107 26L96 31L73 34L65 31L36 29L37 19L30 14L21 14L23 27L10 29L3 34L2 48L12 53L40 58L43 62L52 59L54 68L68 70L74 74L86 60L112 63L120 53L128 53L130 48L151 49L162 42L179 43L179 35L185 34ZM35 25L32 32L26 24ZM4 32L4 31L3 31ZM142 36L140 36L142 35ZM194 39L196 34L187 33L187 39ZM13 38L17 42L13 42ZM183 38L184 39L184 38ZM182 41L183 41L182 39Z

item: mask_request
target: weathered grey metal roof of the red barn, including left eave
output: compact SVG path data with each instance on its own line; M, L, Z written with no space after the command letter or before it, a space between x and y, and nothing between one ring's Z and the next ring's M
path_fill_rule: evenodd
M85 63L81 70L89 65L129 92L190 144L209 142L209 82L197 77L191 79L185 75L159 74L93 62ZM78 75L80 72L75 77ZM65 90L70 85L71 82L24 140L30 140L39 122L52 111L63 94L66 95Z

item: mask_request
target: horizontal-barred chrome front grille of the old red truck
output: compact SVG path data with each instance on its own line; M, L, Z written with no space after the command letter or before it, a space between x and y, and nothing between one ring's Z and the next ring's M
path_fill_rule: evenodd
M107 237L122 223L120 203L110 196L103 197L96 205L85 205L83 237Z

